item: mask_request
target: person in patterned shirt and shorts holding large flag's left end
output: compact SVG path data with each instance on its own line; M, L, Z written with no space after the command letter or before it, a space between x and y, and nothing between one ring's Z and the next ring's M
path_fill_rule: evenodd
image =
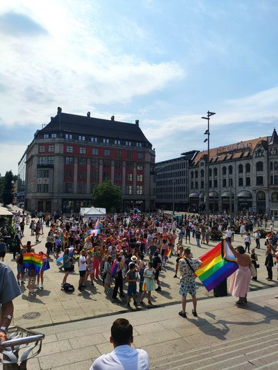
M181 274L179 283L179 294L181 294L182 310L179 316L186 317L186 296L189 293L193 301L193 316L197 317L197 298L196 298L196 283L195 271L202 265L199 258L192 258L190 248L187 246L183 249L183 257L179 260L179 272Z

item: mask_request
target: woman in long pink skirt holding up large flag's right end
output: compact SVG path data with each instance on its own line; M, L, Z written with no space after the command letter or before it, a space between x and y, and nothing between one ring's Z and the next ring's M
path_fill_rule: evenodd
M236 303L243 305L243 303L247 303L247 293L249 292L251 280L250 264L252 262L250 255L245 253L243 246L237 246L234 249L229 242L228 244L238 262L238 269L231 275L229 294L238 297L239 299Z

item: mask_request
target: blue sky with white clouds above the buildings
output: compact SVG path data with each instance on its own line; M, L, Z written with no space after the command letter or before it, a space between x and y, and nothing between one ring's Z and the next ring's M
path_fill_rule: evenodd
M1 0L0 174L63 112L134 123L156 162L278 128L277 0Z

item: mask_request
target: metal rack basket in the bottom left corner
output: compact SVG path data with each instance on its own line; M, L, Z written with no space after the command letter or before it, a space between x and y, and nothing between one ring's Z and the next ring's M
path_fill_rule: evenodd
M40 353L42 339L44 334L19 328L19 326L10 326L8 340L0 342L0 346L4 347L3 358L0 357L3 370L26 370L27 361Z

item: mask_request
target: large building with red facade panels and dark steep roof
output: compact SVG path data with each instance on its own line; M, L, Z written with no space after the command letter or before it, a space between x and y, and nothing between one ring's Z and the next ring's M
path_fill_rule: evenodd
M155 152L136 124L70 115L56 117L26 152L27 210L79 211L92 205L92 190L104 180L122 188L122 210L155 207Z

